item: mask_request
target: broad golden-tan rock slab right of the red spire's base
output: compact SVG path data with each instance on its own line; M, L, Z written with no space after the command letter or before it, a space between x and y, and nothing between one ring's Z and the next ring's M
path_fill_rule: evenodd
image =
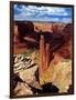
M52 82L58 92L67 92L72 84L72 61L62 60L58 63L52 61L47 71L41 77L42 84Z

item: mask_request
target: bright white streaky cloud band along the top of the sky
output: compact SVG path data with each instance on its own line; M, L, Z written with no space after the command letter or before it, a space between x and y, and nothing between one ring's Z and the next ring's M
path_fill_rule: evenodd
M30 12L35 13L39 12L39 14L47 13L47 14L54 14L54 16L68 16L66 10L64 8L57 8L57 7L36 7L36 6L22 6L22 8L17 8L17 4L14 6L14 9L18 9L22 12Z

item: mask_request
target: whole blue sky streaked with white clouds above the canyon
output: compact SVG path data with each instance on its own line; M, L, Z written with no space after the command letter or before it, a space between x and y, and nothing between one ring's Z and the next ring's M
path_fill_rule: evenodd
M72 8L14 4L15 21L50 21L72 23Z

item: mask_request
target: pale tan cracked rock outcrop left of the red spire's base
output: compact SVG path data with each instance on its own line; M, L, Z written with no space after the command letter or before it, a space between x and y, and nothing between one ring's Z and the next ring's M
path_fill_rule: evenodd
M37 64L34 62L34 58L24 57L23 54L14 54L14 74L18 78L14 80L17 86L14 86L14 96L29 96L33 94L34 89L42 89L39 81L36 80L35 72L37 70Z

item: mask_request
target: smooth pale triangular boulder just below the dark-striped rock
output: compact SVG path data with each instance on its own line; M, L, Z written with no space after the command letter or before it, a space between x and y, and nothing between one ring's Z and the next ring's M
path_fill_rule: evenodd
M37 66L34 66L31 69L20 72L19 76L23 81L25 81L31 87L33 87L35 89L41 89L41 86L39 84L39 82L36 81L36 78L35 78L36 69L37 69Z

